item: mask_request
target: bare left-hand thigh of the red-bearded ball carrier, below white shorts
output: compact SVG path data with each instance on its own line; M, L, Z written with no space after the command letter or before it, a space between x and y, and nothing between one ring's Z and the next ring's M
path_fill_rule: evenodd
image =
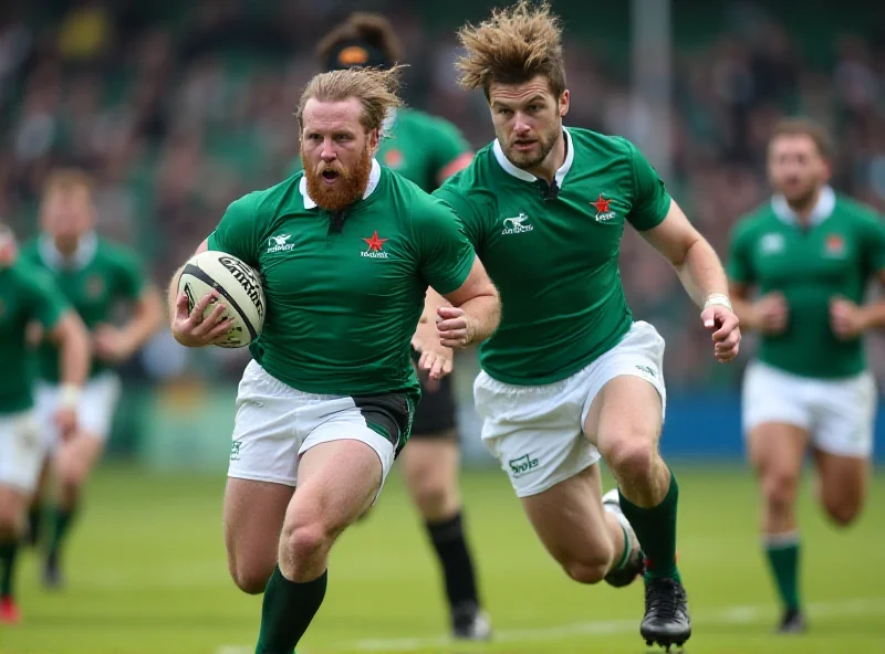
M277 566L285 510L292 486L228 477L225 489L225 546L235 583L257 594Z

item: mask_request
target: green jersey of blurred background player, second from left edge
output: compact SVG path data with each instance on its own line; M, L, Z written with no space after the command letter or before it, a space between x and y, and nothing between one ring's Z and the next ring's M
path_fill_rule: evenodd
M83 236L70 262L62 259L52 239L41 235L28 243L21 256L46 271L74 310L91 331L110 323L121 300L135 300L142 294L145 274L134 251L94 233ZM59 381L59 349L43 342L39 350L40 377L52 383ZM110 366L93 357L90 377Z

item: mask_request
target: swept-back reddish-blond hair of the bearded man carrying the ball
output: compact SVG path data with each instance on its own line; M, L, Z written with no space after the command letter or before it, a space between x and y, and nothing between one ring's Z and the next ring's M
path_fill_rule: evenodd
M315 75L304 87L298 105L298 124L304 129L304 106L308 101L340 102L355 97L363 105L360 122L367 130L382 131L387 113L403 106L399 75L405 66L393 68L345 68ZM384 136L382 134L382 136Z

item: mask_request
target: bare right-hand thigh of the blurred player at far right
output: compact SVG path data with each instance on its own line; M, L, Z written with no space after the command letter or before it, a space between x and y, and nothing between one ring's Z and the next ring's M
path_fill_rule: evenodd
M813 453L818 467L818 498L833 523L847 527L863 508L871 461L864 456L843 456L818 449Z

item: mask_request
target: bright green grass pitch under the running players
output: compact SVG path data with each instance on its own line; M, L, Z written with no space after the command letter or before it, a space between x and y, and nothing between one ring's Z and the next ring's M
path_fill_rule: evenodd
M863 519L830 527L802 502L804 594L811 631L770 635L774 597L756 534L756 491L740 468L675 466L680 479L680 567L695 635L686 652L885 652L885 479ZM24 624L0 631L3 654L249 654L260 598L228 579L221 540L223 476L103 471L67 557L69 588L38 583L33 553L19 574ZM603 654L647 651L642 588L582 587L535 541L507 478L466 475L464 493L486 603L488 645L447 642L434 560L398 475L371 519L333 552L326 601L299 654L346 652Z

